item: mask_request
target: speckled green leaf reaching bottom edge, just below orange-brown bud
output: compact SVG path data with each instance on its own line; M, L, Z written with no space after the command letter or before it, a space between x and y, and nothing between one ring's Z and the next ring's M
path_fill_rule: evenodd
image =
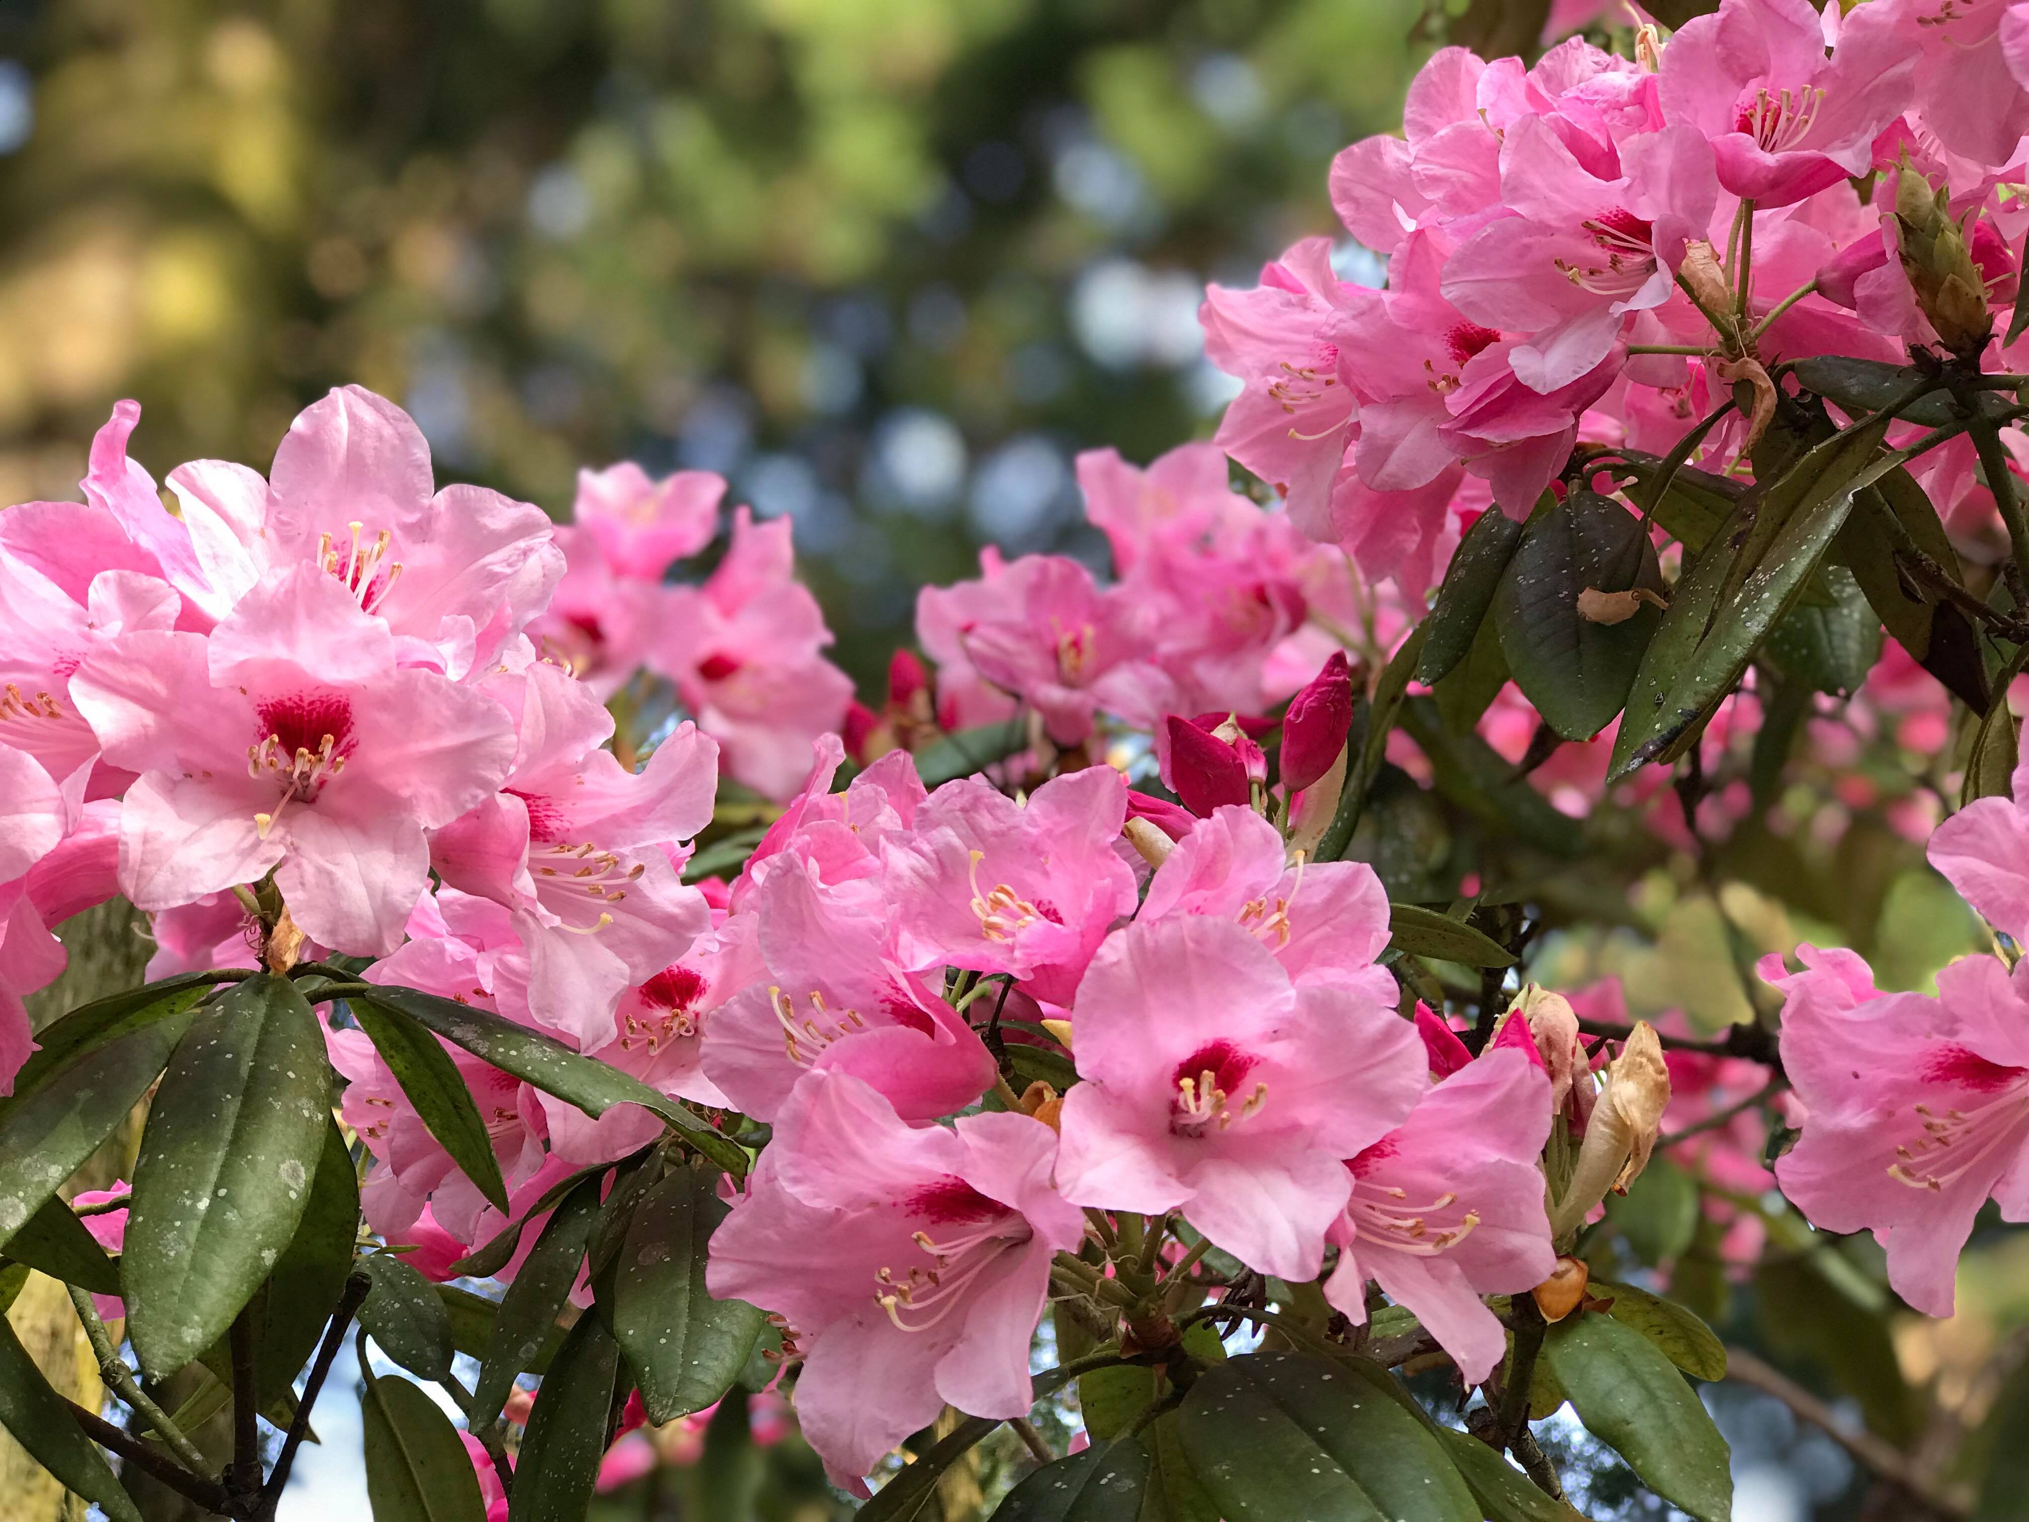
M1579 1421L1643 1485L1698 1522L1731 1522L1727 1439L1656 1343L1611 1315L1581 1313L1550 1327L1542 1358Z

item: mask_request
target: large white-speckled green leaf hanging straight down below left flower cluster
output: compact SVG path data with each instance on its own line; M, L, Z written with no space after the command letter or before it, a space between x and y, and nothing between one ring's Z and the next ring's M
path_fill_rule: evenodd
M288 978L235 984L177 1043L140 1138L120 1260L148 1374L217 1341L288 1248L329 1106L325 1033Z

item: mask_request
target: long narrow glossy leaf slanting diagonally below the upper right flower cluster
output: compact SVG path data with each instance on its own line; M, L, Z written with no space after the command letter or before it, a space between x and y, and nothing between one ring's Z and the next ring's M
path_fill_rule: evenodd
M1739 554L1727 554L1737 532L1712 540L1678 582L1670 617L1635 676L1609 779L1646 761L1668 761L1702 733L1769 629L1796 605L1832 536L1844 528L1852 493L1867 485L1887 426L1889 420L1879 418L1846 428L1810 448L1767 491L1743 499L1747 540ZM1779 528L1769 534L1771 524ZM1765 552L1757 550L1763 542ZM1700 617L1702 609L1710 609L1708 623Z

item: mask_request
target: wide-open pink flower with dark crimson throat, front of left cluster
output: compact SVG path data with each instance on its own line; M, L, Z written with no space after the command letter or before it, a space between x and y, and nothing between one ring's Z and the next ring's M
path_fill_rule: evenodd
M428 883L424 830L499 787L513 731L491 698L398 666L388 625L314 564L262 580L209 635L126 633L71 696L140 771L120 883L142 909L270 869L296 923L377 956Z

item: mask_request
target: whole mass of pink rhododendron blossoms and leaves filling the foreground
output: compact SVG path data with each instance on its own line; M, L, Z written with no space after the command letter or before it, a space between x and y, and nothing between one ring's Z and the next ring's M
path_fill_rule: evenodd
M1439 51L1331 172L1386 284L1319 235L1213 286L1215 440L1081 455L1108 572L921 589L881 708L714 475L584 471L552 524L343 388L170 507L122 402L83 503L0 513L0 1248L73 1274L229 1516L258 1445L191 1467L106 1319L150 1378L233 1372L243 1435L250 1345L323 1347L308 1412L357 1317L465 1412L418 1433L487 1516L781 1392L858 1496L1006 1421L1039 1485L1181 1445L1252 1516L1226 1402L1343 1414L1347 1370L1416 1412L1418 1516L1546 1514L1544 1390L1727 1516L1680 1374L1725 1347L1648 1287L1873 1232L1948 1315L1986 1201L2029 1220L2023 12ZM1995 931L1936 992L1745 954L1792 940L1729 889L1846 862L1863 810L1855 860L1928 842ZM116 895L154 982L37 1029L53 927ZM1641 936L1696 986L1601 978ZM1680 1009L1712 982L1725 1031ZM79 1236L57 1187L144 1098ZM489 1317L473 1388L418 1305ZM1609 1358L1662 1439L1595 1404ZM1394 1374L1430 1368L1469 1435ZM1094 1447L1053 1459L1069 1380ZM436 1412L404 1384L373 1421Z

